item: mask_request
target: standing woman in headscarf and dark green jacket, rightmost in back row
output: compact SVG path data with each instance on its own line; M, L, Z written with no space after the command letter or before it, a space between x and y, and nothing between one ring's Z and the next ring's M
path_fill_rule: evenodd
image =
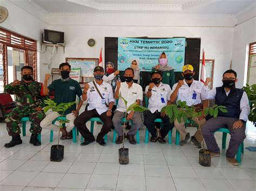
M168 65L168 59L165 52L162 52L158 58L158 65L152 68L152 72L154 70L160 70L163 72L163 80L162 83L169 84L172 88L175 83L174 69Z

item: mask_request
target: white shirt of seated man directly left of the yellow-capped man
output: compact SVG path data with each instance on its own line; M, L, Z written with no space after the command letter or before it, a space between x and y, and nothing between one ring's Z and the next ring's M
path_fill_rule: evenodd
M146 87L145 92L149 89L149 86ZM152 112L156 112L157 110L160 112L161 109L167 105L167 101L170 100L170 96L172 90L168 84L160 83L159 87L154 85L151 90L151 97L149 98L149 110Z

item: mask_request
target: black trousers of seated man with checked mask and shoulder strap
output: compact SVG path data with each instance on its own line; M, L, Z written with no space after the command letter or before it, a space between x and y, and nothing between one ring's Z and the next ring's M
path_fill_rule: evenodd
M99 117L104 123L96 139L97 141L102 141L104 140L104 135L111 130L112 126L111 117L106 116L106 112L99 115L96 109L84 111L75 119L74 124L85 140L92 140L94 139L93 134L86 127L86 122L92 117Z

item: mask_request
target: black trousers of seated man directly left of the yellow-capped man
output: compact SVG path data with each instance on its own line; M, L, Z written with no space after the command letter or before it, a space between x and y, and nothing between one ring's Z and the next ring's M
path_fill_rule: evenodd
M163 127L160 129L160 133L161 133L161 137L165 138L165 136L168 134L168 132L173 129L174 124L170 122L170 118L165 115L164 117L162 117L160 115L161 113L156 111L153 114L151 113L151 111L147 111L144 115L144 124L146 126L146 128L149 130L150 134L152 135L152 137L156 138L157 137L157 130L154 127L154 121L157 118L162 119L163 121Z

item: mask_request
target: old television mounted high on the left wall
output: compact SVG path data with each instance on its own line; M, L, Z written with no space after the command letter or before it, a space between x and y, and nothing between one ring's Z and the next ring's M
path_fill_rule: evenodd
M50 44L64 44L64 32L44 30L43 42Z

